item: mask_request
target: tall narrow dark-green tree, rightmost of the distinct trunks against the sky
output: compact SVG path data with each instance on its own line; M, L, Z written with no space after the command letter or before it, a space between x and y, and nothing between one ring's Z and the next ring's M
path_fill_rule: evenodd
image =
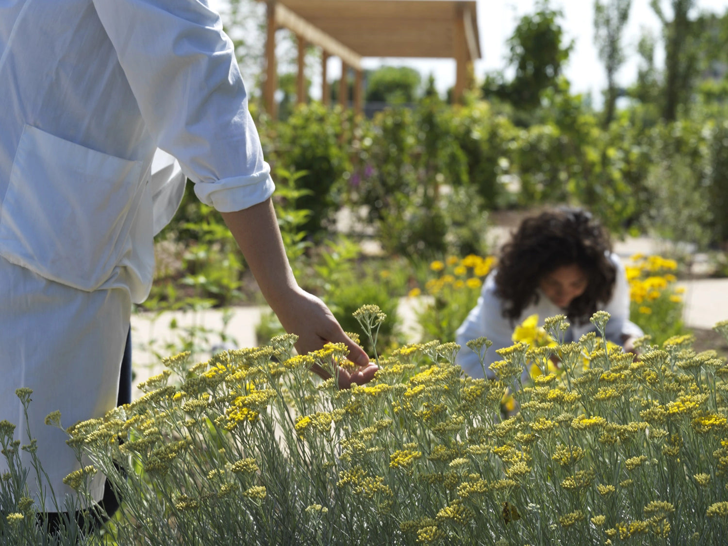
M695 0L670 0L673 12L668 19L662 0L651 0L650 7L662 23L665 39L665 101L662 117L668 122L677 118L678 106L687 103L697 74L697 48L693 44L695 22L689 19Z

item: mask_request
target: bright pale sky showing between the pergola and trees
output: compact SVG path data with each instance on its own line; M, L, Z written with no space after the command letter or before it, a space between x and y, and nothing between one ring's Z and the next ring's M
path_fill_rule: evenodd
M215 7L223 0L210 0ZM536 0L477 0L478 30L483 58L475 62L475 77L482 80L486 71L505 68L507 57L506 41L513 34L518 19L534 12ZM662 0L668 5L668 0ZM599 61L594 46L593 0L551 0L553 7L561 8L561 24L567 39L574 40L569 63L564 74L571 82L574 93L591 93L595 105L601 104L601 91L606 87L604 65ZM728 0L697 0L697 9L723 13L728 9ZM669 13L669 9L667 10ZM649 7L649 0L632 0L630 18L623 35L627 61L617 74L620 85L630 85L637 77L637 43L645 28L660 36L660 21ZM662 47L657 47L656 61L662 63ZM400 59L364 58L365 69L376 69L382 65L411 66L422 74L426 81L429 74L435 76L435 85L442 95L455 83L455 61L448 59ZM338 79L341 63L333 58L328 65L328 79ZM314 74L311 94L320 98L320 69Z

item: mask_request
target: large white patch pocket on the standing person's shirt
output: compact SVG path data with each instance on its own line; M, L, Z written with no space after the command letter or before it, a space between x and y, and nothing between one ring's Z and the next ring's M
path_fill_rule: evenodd
M128 246L141 168L25 125L0 208L0 255L52 281L98 289Z

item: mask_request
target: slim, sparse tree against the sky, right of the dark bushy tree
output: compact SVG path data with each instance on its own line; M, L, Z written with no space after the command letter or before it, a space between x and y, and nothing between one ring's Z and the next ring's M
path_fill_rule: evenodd
M606 69L606 103L604 104L604 127L614 119L617 103L617 71L625 62L622 50L622 31L630 15L632 0L595 0L594 2L594 43L599 58Z

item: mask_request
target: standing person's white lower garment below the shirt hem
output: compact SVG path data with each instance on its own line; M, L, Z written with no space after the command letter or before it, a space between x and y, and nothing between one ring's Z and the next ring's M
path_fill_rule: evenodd
M117 274L119 270L117 270ZM117 286L119 286L117 284ZM44 490L44 510L55 511L72 494L63 478L79 469L65 432L44 424L60 410L64 428L103 416L116 405L119 370L130 321L130 294L123 288L83 292L49 281L0 257L0 421L16 425L21 445L36 438L37 455L50 482L38 483L31 455L21 451L30 470L28 488L36 499ZM33 389L25 421L15 389ZM0 456L0 475L7 461ZM91 483L91 494L103 496L103 475Z

